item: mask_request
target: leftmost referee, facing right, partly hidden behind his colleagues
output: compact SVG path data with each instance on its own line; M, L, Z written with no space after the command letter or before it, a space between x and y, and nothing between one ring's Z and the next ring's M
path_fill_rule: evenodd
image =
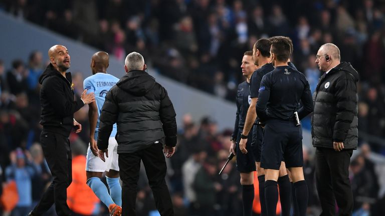
M254 173L255 162L253 154L243 154L239 148L239 140L241 139L241 132L245 124L247 110L249 108L250 98L250 78L257 65L254 64L253 51L246 51L242 58L242 75L246 77L246 81L238 85L237 90L237 115L234 125L234 132L231 136L232 145L230 152L237 155L237 170L241 174L242 184L242 200L243 200L243 215L252 215L253 200L254 200ZM252 134L249 133L249 141L247 142L247 149L251 149Z

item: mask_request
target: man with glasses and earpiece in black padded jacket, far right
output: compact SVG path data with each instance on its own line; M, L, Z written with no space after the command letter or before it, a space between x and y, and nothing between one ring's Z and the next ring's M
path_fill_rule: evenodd
M349 181L349 162L358 141L358 72L340 62L336 45L322 45L316 63L325 72L313 95L313 146L316 147L316 182L321 215L351 215L353 195ZM334 200L335 199L335 200Z

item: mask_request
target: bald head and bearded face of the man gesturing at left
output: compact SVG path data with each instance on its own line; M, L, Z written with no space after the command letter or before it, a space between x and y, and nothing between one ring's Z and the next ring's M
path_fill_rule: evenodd
M71 65L71 57L67 47L64 45L54 45L48 50L51 64L60 72L67 71Z

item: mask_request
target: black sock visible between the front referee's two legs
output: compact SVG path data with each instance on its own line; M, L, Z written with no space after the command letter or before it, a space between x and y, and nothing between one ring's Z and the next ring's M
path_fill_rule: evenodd
M289 175L278 178L279 197L281 199L282 216L290 216L291 183Z

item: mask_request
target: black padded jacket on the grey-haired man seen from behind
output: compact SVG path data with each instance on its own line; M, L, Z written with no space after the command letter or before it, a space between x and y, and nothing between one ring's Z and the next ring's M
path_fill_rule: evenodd
M166 89L154 77L143 70L129 71L106 95L98 148L107 148L115 122L118 153L136 152L158 142L175 146L175 115Z

